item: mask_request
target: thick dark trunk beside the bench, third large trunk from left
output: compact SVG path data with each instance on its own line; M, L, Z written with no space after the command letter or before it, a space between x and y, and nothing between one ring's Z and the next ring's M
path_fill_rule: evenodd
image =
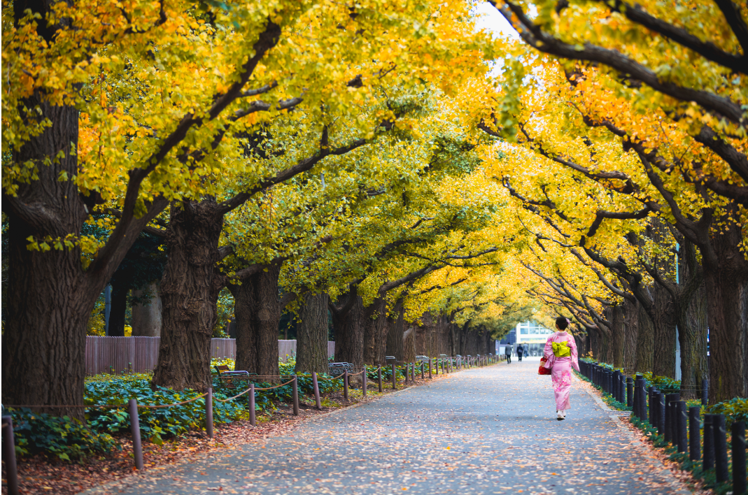
M260 376L278 375L278 326L281 265L265 265L242 285L230 285L236 316L236 369ZM325 344L325 354L327 354Z

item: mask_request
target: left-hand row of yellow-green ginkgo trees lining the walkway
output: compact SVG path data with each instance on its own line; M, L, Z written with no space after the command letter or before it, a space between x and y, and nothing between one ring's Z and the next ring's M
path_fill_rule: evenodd
M463 125L493 57L466 2L2 15L4 403L82 415L65 406L82 404L91 310L110 281L135 286L123 260L144 239L165 254L154 385L209 386L224 288L236 366L260 375L278 373L286 308L306 371L326 369L328 308L339 360L479 348L471 316L501 296L479 270L506 246L476 155L491 139Z

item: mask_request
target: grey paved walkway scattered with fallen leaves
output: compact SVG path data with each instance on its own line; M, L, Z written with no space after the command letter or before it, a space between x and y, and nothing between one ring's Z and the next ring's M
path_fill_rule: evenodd
M88 493L688 493L583 382L557 421L538 363L459 372Z

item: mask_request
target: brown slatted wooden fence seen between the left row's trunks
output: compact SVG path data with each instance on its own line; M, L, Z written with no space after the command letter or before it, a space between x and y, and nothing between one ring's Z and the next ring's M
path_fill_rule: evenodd
M160 337L87 336L85 366L87 375L99 373L147 372L159 360ZM295 356L295 340L278 340L278 357L283 363ZM335 354L335 342L328 342L328 357ZM212 357L236 357L236 339L212 339Z

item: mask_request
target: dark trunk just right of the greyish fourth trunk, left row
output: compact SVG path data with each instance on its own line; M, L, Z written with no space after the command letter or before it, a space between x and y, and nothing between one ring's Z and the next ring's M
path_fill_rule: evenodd
M364 300L353 288L341 297L341 304L340 308L330 304L335 360L361 366L364 364Z

